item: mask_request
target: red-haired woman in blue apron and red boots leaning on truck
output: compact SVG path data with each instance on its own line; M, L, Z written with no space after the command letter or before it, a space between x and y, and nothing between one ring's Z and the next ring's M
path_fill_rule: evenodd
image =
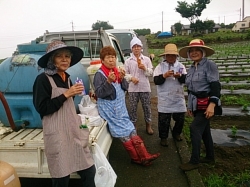
M111 135L122 141L131 162L148 166L160 154L148 153L129 119L125 103L125 91L128 89L128 82L124 79L125 71L117 70L116 52L112 46L102 48L100 58L102 66L94 77L99 113L107 120Z

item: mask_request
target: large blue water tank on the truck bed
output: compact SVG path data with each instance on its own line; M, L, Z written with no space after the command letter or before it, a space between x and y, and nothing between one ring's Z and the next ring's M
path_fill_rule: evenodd
M37 44L32 41L29 44L18 45L19 53L7 58L0 64L0 91L3 93L9 105L13 120L18 126L26 120L30 124L27 128L42 128L40 115L33 106L33 83L43 69L37 65L39 58L45 54L48 44ZM76 78L83 80L86 93L89 93L89 78L86 69L79 62L70 67L67 72L74 82ZM76 109L82 97L74 99ZM3 104L0 103L0 121L10 126Z

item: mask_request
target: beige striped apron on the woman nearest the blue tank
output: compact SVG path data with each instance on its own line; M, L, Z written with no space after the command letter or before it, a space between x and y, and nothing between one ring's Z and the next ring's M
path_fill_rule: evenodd
M57 87L53 78L47 77L52 86L51 98L67 90ZM42 123L45 154L52 178L67 176L94 164L87 146L89 130L79 128L81 118L76 113L72 97L68 98L57 112L44 116Z

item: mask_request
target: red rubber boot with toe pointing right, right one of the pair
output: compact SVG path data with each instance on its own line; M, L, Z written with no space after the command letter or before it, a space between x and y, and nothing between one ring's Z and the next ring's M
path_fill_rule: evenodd
M150 154L148 153L143 140L139 136L132 136L131 140L133 142L134 148L140 157L143 165L150 165L151 162L160 156L160 153Z

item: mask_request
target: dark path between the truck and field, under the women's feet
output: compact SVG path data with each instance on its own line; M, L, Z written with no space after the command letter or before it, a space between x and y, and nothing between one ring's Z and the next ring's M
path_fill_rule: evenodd
M153 88L152 93L155 93L155 86L151 85ZM152 95L152 97L155 97L155 95ZM149 167L131 164L130 158L120 140L114 139L109 152L109 161L118 176L116 187L188 187L185 173L178 168L181 161L171 134L169 147L162 147L159 144L156 103L152 103L152 120L155 131L152 136L147 135L145 132L141 104L139 103L138 106L138 134L143 138L150 153L159 152L161 156Z

